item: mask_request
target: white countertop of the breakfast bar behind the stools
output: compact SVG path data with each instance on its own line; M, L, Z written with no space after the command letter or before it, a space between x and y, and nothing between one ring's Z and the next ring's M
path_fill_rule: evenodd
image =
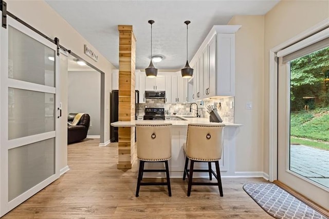
M177 115L175 115L177 116ZM180 117L180 116L177 116ZM242 124L236 124L236 123L230 123L230 122L222 122L222 123L217 123L217 122L210 122L209 118L188 118L184 117L182 119L186 120L134 120L134 121L118 121L118 122L112 122L111 125L114 127L134 127L136 124L172 124L173 126L187 126L190 123L193 124L225 124L226 126L232 126L232 127L237 127Z

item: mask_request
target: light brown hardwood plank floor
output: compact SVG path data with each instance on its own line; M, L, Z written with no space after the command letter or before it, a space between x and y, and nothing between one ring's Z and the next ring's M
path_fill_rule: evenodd
M222 178L224 197L215 186L194 186L171 179L166 186L140 189L137 165L117 170L118 147L98 147L98 139L68 145L70 170L3 218L272 218L242 189L262 178Z

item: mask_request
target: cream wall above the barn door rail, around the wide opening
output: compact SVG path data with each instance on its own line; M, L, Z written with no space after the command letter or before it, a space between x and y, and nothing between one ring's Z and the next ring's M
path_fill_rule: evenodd
M115 67L44 1L7 0L6 2L7 10L9 12L43 32L51 39L54 39L55 37L59 38L61 45L75 52L78 56L105 72L104 142L109 142L109 93L112 90L111 71ZM98 62L95 62L84 54L84 44L89 45L90 48L99 54ZM61 84L61 90L65 92L65 90L67 90L67 84ZM67 104L64 105L63 103L62 107L67 108ZM62 116L63 118L67 118L67 114L62 114ZM63 129L67 130L67 127L65 126ZM61 147L61 157L65 157L67 153L67 145L61 144ZM61 169L67 166L67 163L64 161L62 162L63 163L60 164Z

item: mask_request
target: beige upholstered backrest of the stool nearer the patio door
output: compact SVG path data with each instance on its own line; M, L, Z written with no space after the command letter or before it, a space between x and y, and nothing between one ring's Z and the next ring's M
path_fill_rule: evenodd
M192 160L219 160L222 158L225 124L189 124L186 156Z

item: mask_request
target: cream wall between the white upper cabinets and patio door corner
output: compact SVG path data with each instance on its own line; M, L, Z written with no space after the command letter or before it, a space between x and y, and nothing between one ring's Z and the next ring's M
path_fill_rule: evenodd
M236 136L235 171L262 172L264 16L234 16L228 24L242 25L235 33L234 123L243 124Z

